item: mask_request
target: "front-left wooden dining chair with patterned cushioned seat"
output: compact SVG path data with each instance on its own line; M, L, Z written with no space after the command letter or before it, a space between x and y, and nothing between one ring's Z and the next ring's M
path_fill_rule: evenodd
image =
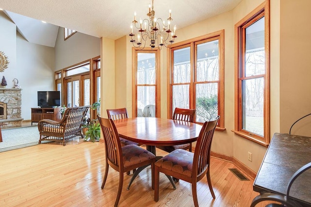
M104 189L110 166L120 173L119 189L115 201L115 207L117 207L121 197L125 172L151 164L152 189L154 189L155 155L135 144L121 147L119 134L112 119L104 119L98 116L98 120L101 124L105 143L105 173L102 189Z

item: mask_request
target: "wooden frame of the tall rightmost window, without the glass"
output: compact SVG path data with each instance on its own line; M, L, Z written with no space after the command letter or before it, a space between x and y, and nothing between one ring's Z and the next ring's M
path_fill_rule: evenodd
M235 24L235 134L254 141L267 147L270 143L270 0L260 4L255 10L249 13ZM243 73L245 64L245 36L243 35L247 26L256 22L259 18L265 17L265 74L264 78L264 106L263 106L263 137L243 130L242 127L242 80L245 80ZM253 76L256 78L257 76Z

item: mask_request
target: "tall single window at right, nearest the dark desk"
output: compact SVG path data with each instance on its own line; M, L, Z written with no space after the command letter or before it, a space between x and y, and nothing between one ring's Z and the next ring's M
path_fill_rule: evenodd
M235 25L235 130L267 146L269 138L269 2L264 2Z

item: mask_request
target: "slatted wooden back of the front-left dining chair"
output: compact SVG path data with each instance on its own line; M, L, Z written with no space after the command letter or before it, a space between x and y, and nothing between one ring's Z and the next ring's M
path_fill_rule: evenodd
M115 166L123 166L121 160L121 143L116 126L112 119L104 119L98 116L104 135L105 150L107 159Z

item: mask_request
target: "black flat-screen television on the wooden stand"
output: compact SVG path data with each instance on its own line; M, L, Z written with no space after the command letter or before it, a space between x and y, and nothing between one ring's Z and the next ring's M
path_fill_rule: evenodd
M41 108L53 108L60 106L60 92L38 91L38 106Z

